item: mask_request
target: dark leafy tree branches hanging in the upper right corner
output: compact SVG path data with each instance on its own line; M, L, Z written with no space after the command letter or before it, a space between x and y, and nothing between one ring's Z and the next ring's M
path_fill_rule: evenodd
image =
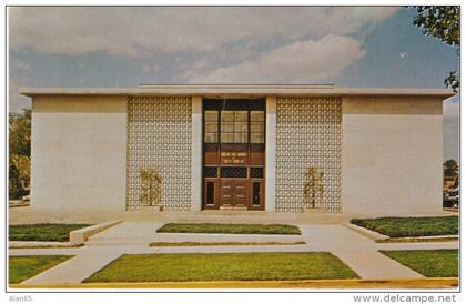
M415 7L417 16L413 23L423 29L423 33L435 37L448 45L455 47L459 55L459 7ZM452 71L444 81L455 92L459 89L459 75Z

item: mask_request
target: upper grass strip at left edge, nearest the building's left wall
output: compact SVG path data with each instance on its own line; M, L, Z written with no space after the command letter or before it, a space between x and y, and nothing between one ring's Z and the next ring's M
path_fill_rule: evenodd
M69 242L70 232L89 224L29 224L10 225L10 241Z

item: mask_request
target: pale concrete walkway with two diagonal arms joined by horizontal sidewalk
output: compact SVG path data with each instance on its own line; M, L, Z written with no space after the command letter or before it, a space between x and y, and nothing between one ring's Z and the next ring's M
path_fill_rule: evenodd
M457 249L458 242L375 243L344 225L301 225L303 235L155 233L162 223L123 222L92 236L80 249L10 250L10 255L70 254L74 257L22 284L77 284L122 254L226 252L331 252L364 280L423 278L379 250ZM305 245L150 247L151 242L297 242Z

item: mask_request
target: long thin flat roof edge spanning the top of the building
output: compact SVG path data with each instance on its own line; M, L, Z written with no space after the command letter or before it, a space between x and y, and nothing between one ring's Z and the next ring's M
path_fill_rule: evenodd
M332 84L141 84L140 88L22 88L36 95L201 95L206 98L265 95L306 97L438 97L449 98L449 89L356 89Z

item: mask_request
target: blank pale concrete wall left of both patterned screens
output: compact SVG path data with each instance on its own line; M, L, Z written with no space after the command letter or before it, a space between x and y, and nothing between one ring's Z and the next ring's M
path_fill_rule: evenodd
M125 97L36 97L31 206L124 211Z

